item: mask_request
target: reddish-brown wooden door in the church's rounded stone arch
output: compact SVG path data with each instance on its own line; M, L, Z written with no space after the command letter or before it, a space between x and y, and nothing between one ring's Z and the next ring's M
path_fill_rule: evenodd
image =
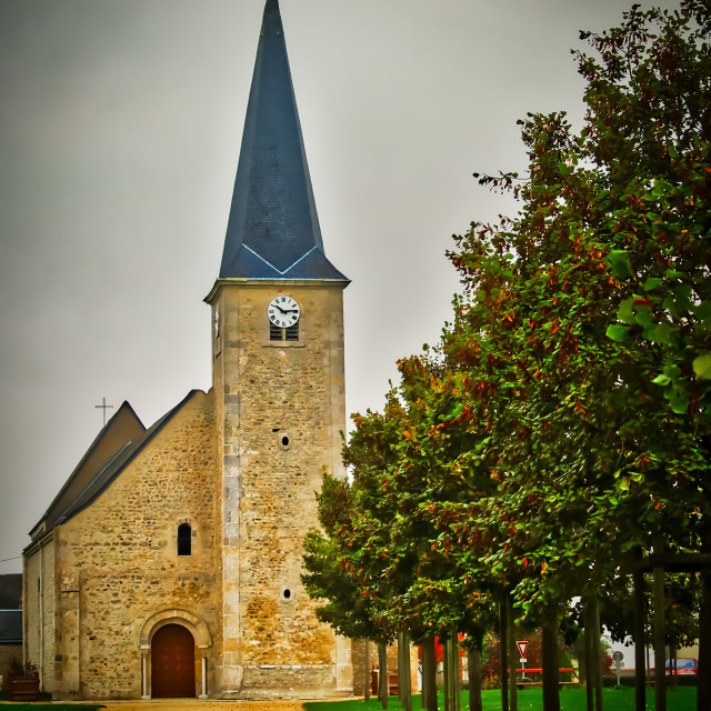
M151 640L153 699L196 695L196 641L182 624L166 624Z

